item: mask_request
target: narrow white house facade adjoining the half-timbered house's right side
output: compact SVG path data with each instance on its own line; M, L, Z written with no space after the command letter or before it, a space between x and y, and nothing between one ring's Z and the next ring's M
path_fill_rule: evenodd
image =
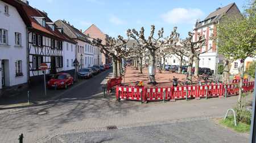
M73 61L75 60L76 55L76 44L71 42L64 41L63 42L63 70L75 70L73 66Z

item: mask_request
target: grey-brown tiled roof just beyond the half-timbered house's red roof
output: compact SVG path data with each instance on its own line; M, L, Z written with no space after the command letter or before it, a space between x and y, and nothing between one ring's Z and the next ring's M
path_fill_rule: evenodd
M57 20L55 21L55 24L57 27L63 28L64 33L67 34L68 37L90 43L90 40L87 39L85 34L79 31L79 29L76 29L72 25L68 24L66 21Z

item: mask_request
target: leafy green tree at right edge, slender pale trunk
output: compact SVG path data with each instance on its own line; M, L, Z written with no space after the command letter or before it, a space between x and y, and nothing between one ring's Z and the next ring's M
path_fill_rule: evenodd
M238 105L241 108L244 60L256 55L256 3L245 10L243 16L226 15L217 26L218 51L225 57L224 81L229 79L229 60L241 60Z

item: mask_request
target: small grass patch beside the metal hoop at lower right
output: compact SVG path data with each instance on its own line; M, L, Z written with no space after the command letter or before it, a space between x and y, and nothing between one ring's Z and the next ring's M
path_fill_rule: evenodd
M220 120L220 124L226 126L226 127L229 127L229 128L232 128L234 129L234 131L237 131L237 132L241 132L241 133L245 133L245 132L249 132L250 131L250 125L249 124L245 124L245 123L241 123L241 122L237 122L237 126L234 125L234 118L226 118L225 120L224 119L221 119Z

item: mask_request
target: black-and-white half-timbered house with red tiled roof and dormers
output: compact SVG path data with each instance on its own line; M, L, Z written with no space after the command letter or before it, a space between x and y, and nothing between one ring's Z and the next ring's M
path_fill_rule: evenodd
M46 74L63 71L63 42L68 39L46 12L29 5L23 5L23 9L31 23L31 28L28 28L28 75L31 81L41 79L41 63L48 66Z

